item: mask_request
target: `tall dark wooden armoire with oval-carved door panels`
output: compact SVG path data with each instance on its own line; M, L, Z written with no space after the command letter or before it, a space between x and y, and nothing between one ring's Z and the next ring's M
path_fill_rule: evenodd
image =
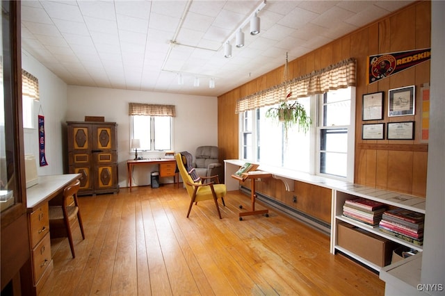
M78 195L118 192L115 122L67 122L68 171L81 174Z

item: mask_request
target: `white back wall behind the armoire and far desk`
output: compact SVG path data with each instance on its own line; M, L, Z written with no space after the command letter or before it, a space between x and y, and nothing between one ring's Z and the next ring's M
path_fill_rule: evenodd
M216 97L201 97L187 94L141 92L136 90L115 90L68 86L67 121L83 122L85 116L104 116L106 122L118 123L119 185L127 187L127 160L130 154L129 103L175 105L174 119L175 151L189 151L195 154L201 145L218 145L218 100ZM161 157L163 154L143 154L144 158ZM147 185L149 173L156 167L138 167L133 172L133 184ZM172 181L166 180L166 181Z

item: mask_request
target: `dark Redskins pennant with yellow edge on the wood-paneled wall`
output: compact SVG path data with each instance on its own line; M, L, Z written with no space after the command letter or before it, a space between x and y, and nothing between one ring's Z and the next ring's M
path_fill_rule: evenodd
M429 60L431 49L416 49L410 51L398 51L391 54L377 54L368 57L368 69L366 79L368 84L384 79L405 69Z

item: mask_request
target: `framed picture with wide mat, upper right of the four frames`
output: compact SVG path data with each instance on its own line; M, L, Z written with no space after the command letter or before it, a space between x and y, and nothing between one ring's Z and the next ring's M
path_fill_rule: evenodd
M388 116L414 115L415 86L394 88L388 92Z

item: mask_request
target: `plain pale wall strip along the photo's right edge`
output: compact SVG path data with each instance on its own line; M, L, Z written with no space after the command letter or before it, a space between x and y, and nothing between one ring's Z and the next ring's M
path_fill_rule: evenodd
M431 2L430 142L421 283L442 284L445 295L445 2ZM437 286L436 286L437 287Z

